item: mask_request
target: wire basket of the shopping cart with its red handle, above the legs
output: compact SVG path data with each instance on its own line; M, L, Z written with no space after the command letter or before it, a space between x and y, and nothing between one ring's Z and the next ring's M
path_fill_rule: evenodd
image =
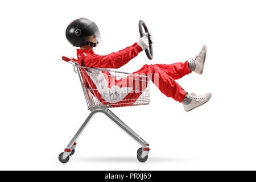
M114 69L81 67L75 59L63 57L78 73L89 110L149 104L150 78Z

